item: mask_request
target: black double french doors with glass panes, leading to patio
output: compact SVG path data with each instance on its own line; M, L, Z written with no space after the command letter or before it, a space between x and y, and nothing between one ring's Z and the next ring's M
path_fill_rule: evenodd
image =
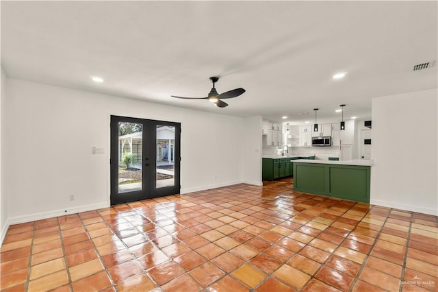
M181 124L111 116L111 204L179 193Z

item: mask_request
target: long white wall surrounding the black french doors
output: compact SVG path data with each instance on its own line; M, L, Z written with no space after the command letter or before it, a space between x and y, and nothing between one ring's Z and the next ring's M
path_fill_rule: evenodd
M181 193L243 181L242 118L12 78L7 85L3 171L12 223L109 206L111 114L181 122ZM105 154L92 154L93 146Z

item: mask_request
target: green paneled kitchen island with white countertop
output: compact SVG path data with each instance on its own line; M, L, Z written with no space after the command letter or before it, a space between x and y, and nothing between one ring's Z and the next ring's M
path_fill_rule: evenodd
M294 160L294 191L370 203L372 160Z

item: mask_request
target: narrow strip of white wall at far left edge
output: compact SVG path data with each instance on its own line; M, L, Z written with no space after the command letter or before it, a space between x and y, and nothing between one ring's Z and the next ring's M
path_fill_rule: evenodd
M6 97L6 74L3 71L3 67L1 69L1 85L0 85L0 245L3 242L4 236L6 235L6 230L8 228L8 208L6 206L8 205L8 202L6 201L6 193L4 191L5 184L3 183L5 180L3 179L3 176L5 174L5 171L3 171L3 160L4 157L3 153L5 148L3 147L3 143L5 143L5 139L3 138L3 119L5 117L5 114L3 113L4 106L3 102L5 101Z

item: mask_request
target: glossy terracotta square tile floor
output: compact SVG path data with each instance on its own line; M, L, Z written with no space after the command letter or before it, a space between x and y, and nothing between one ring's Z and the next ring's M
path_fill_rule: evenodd
M437 217L292 179L10 226L1 291L438 291Z

